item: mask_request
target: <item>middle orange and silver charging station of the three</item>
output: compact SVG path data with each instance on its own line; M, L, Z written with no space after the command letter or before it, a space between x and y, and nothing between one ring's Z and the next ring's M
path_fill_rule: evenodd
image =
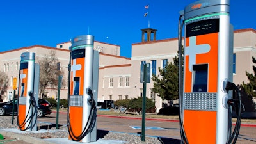
M97 141L99 52L93 43L94 36L81 35L71 46L68 139L82 143Z

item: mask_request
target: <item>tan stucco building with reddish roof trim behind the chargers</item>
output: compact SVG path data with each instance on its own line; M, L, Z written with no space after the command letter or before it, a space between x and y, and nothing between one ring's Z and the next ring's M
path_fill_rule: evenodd
M143 29L145 31L145 29ZM156 31L154 31L156 35ZM144 40L132 45L131 58L120 56L120 46L95 41L94 49L100 52L99 60L99 93L98 100L118 100L140 97L143 92L143 84L140 83L141 63L150 63L151 72L159 74L158 67L163 68L165 63L172 62L178 51L178 39L168 38L164 40ZM70 42L57 44L56 47L34 45L22 47L11 51L0 52L0 70L8 74L10 86L4 93L4 100L12 99L12 79L19 75L20 54L22 52L35 52L36 60L44 58L49 50L56 50L61 67L65 68L65 79L68 77L68 61ZM256 31L255 29L241 29L234 31L233 81L241 84L248 82L245 72L253 73L252 56L256 57ZM152 74L152 73L151 73ZM166 100L162 100L152 92L153 81L147 84L147 97L154 99L156 108L163 108ZM56 98L56 89L48 88L45 95ZM61 88L61 99L67 99L67 86Z

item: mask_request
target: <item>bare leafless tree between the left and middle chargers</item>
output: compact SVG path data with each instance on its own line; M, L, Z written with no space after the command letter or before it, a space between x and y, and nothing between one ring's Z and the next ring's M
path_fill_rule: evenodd
M45 88L57 88L58 76L64 74L63 68L60 66L60 61L56 56L56 51L51 50L49 54L45 54L44 58L38 60L40 65L40 93L39 97L44 97Z

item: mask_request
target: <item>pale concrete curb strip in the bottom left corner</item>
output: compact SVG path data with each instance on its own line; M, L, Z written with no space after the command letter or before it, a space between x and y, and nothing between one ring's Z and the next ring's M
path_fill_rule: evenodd
M10 138L15 138L17 140L22 140L26 143L36 143L36 144L54 144L49 141L42 140L40 138L34 138L32 136L25 136L23 134L17 134L15 132L8 132L0 129L0 133L4 136L8 136Z

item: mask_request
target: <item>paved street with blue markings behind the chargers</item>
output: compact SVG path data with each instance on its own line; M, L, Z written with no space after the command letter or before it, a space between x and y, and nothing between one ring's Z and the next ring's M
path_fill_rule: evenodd
M49 122L56 124L56 113L38 118L39 122ZM67 125L67 113L60 113L59 124ZM138 118L118 118L117 116L97 116L97 129L116 132L127 132L140 134L141 119ZM146 136L158 136L162 138L172 138L180 140L179 122L177 120L147 120ZM253 125L242 124L237 143L256 143L256 127Z

